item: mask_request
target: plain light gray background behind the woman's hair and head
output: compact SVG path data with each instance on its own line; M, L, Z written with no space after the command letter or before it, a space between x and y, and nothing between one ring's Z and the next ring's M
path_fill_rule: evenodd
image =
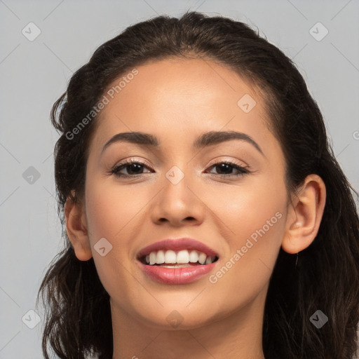
M50 107L101 43L140 20L189 8L258 27L294 59L323 111L334 153L359 189L358 0L0 0L0 358L42 358L43 321L34 329L25 323L36 323L28 311L36 309L46 267L63 245ZM22 34L29 22L41 29L34 41ZM321 41L310 33L317 22L329 31ZM312 31L320 36L324 29Z

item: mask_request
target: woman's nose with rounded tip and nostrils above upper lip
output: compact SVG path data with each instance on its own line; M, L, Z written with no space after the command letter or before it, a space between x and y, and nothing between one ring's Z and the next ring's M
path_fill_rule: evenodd
M171 226L198 225L203 222L205 204L201 201L200 185L184 176L177 184L165 177L155 196L151 219L155 224ZM203 189L202 189L203 191Z

